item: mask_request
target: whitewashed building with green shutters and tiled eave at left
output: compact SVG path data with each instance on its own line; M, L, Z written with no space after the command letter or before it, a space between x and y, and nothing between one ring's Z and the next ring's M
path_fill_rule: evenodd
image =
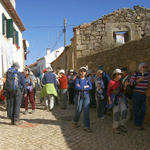
M25 27L16 12L16 1L0 0L0 78L13 62L18 62L23 71L28 47L26 40L23 42L23 31Z

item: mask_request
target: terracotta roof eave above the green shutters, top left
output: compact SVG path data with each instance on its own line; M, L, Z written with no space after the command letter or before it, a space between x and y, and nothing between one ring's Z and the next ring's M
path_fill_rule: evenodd
M24 27L21 19L19 18L16 10L14 9L13 5L11 4L10 0L2 0L3 4L5 5L6 9L8 10L8 13L13 18L14 22L17 24L19 29L21 31L25 31L26 28Z

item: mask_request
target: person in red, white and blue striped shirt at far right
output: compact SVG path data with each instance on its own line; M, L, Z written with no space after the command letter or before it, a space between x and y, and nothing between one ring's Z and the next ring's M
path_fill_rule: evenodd
M146 113L146 91L150 72L147 71L147 64L140 63L139 71L134 72L130 78L130 85L134 86L133 101L133 116L134 124L138 130L142 130L144 117Z

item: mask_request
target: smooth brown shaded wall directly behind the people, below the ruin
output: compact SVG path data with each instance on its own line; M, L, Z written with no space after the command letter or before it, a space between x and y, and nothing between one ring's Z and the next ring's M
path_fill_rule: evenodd
M78 58L77 68L88 65L89 69L97 70L99 65L103 65L111 74L115 68L121 67L127 67L130 72L135 71L140 62L147 62L150 65L150 36L91 56Z

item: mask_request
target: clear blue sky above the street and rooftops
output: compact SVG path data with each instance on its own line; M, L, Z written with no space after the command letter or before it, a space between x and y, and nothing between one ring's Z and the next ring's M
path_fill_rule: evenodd
M67 44L70 44L73 26L92 22L119 8L133 8L134 5L150 8L150 1L16 0L17 12L26 27L23 37L30 43L26 64L34 63L43 57L48 46L51 50L63 46L64 18L67 19Z

